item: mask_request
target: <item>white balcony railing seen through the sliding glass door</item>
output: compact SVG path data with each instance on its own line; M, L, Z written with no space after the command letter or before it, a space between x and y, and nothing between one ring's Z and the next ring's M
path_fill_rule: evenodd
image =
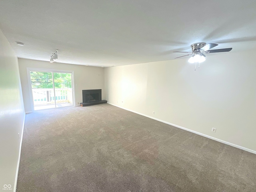
M54 104L53 89L32 88L34 105ZM55 88L56 103L69 102L73 104L71 88Z

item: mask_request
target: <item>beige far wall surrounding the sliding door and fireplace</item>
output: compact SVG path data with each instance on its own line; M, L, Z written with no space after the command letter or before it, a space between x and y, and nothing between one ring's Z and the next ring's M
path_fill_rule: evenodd
M29 60L29 59L21 59L21 58L18 58L18 62L19 62L19 68L20 68L20 79L21 79L21 85L22 85L22 94L24 98L24 107L26 112L32 111L29 88L28 88L27 68L44 68L44 69L74 71L76 105L78 105L78 103L81 103L83 101L82 90L85 90L85 89L102 89L102 100L105 99L104 68L74 65L74 64L50 63L46 61Z

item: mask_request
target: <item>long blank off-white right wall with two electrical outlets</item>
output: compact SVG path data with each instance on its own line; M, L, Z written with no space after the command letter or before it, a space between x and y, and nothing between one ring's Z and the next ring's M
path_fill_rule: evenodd
M106 100L256 151L255 51L105 68Z

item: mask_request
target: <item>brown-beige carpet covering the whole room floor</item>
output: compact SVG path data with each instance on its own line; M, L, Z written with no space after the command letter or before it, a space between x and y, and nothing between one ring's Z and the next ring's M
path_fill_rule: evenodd
M17 192L255 191L255 154L110 104L26 115Z

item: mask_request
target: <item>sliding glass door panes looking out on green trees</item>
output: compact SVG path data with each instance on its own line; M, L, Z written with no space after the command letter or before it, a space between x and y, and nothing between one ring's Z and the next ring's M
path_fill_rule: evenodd
M34 110L74 106L73 72L28 69Z

